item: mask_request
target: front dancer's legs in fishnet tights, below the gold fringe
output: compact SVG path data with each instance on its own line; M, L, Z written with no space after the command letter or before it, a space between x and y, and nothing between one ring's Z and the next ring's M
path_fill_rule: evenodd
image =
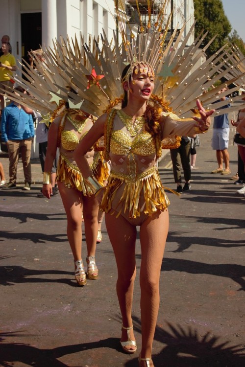
M106 214L105 222L118 267L117 295L123 326L130 327L132 326L131 312L136 276L137 230L135 220L131 221L122 215L116 218L114 215ZM142 215L140 225L142 358L151 357L159 309L159 278L168 228L168 210L158 212L151 217Z

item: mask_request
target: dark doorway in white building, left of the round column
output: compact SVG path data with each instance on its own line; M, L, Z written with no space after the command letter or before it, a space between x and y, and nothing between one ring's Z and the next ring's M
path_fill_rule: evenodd
M42 13L21 14L22 57L27 63L28 51L42 45Z

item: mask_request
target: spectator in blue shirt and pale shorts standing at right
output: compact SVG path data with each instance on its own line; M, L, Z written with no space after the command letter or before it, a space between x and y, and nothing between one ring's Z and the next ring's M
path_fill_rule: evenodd
M223 88L218 93L222 93L227 91L228 88ZM228 100L228 97L223 96L220 100ZM230 107L230 104L227 103L225 106L221 108ZM229 175L231 173L230 170L230 156L228 152L229 145L229 119L228 114L218 115L214 117L214 126L213 126L213 137L212 137L212 148L216 150L216 158L218 162L218 168L212 171L211 173L221 173L221 175ZM225 168L223 168L223 164Z

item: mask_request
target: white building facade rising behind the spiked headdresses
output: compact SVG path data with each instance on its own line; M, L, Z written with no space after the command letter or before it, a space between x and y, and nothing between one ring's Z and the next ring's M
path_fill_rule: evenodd
M118 0L119 4L134 0ZM161 0L153 0L154 6ZM0 0L0 36L10 36L13 55L27 61L27 52L40 45L51 46L52 39L81 35L85 43L90 36L100 35L102 28L108 39L116 30L114 0ZM141 3L146 3L142 0ZM125 9L124 9L125 10ZM167 13L173 13L172 27L180 28L188 21L186 33L194 22L193 0L170 0ZM193 34L194 40L194 34Z

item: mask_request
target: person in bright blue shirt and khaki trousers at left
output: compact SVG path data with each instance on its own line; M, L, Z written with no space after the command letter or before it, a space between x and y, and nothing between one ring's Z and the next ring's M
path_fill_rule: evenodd
M15 93L25 93L22 87L16 87ZM23 190L30 190L31 186L31 145L34 138L34 124L32 115L27 114L17 102L10 103L2 111L1 117L2 140L6 142L9 156L9 183L2 187L4 190L16 188L17 165L21 153L25 186Z

